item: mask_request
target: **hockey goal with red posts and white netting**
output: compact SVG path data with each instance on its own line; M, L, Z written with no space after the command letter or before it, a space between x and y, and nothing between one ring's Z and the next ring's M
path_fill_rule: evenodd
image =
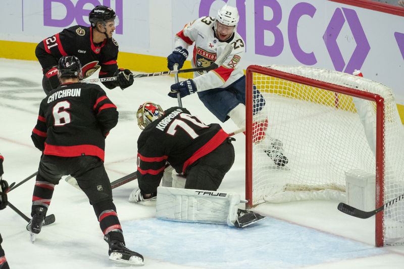
M253 142L259 135L254 123L266 119L266 138ZM288 159L284 167L266 154L276 139ZM375 175L375 208L404 193L404 131L391 89L331 70L247 68L250 207L307 199L345 202L345 173L352 170ZM378 213L375 221L377 246L404 243L404 202Z

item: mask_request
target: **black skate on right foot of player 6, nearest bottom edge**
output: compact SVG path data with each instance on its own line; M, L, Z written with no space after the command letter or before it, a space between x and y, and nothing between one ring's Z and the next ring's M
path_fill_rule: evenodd
M128 249L123 242L119 240L111 241L108 234L104 236L104 240L109 244L108 255L110 255L110 260L134 266L144 265L143 256Z

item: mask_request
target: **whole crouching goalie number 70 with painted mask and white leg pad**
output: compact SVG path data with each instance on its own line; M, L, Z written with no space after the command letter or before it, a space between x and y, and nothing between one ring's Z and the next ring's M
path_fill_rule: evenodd
M216 191L234 163L234 138L219 124L205 125L182 107L163 112L152 102L140 105L136 117L143 130L137 140L139 188L130 194L130 202L157 201L157 217L175 221L245 227L264 219L238 209L237 193ZM173 185L180 188L169 188Z

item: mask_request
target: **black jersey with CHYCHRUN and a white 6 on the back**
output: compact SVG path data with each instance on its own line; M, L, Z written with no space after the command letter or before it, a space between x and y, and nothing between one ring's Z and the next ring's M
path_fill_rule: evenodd
M41 101L31 138L45 155L92 155L104 161L105 137L117 123L117 107L101 87L63 84Z

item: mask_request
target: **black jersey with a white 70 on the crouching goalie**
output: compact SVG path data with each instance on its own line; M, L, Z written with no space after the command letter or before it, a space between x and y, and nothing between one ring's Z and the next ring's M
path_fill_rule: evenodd
M166 162L179 174L228 137L219 124L205 125L182 107L171 107L137 140L137 179L159 185Z

